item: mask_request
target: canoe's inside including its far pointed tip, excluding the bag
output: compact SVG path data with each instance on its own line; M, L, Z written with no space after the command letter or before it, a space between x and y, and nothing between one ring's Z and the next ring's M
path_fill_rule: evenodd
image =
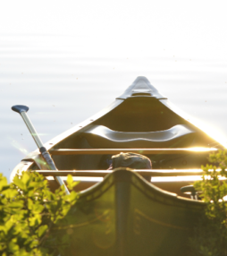
M164 101L167 99L143 77L116 100L122 100L121 104L54 143L49 152L59 170L106 170L114 152L123 150L146 155L155 170L198 169L207 164L211 147L223 148L166 107ZM38 169L38 166L33 165L31 169ZM191 181L156 181L158 187L181 196L184 196L180 192L181 186L189 183ZM77 189L82 190L92 184L81 182Z

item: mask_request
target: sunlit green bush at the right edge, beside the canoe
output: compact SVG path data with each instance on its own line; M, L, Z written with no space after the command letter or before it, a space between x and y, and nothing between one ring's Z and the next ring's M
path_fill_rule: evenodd
M227 255L227 183L223 180L227 177L227 150L211 154L209 161L214 166L202 166L203 180L194 183L206 209L190 239L193 256Z

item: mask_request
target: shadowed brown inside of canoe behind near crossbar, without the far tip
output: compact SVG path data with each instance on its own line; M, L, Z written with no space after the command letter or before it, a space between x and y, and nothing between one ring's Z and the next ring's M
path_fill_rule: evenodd
M127 98L92 124L55 144L55 149L188 149L214 147L218 143L176 115L156 98ZM200 168L207 154L147 155L154 169ZM107 152L98 155L53 155L60 170L108 168Z

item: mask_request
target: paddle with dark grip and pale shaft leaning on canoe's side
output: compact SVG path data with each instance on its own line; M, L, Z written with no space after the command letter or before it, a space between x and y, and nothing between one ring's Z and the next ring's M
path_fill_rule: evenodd
M36 142L38 149L42 155L42 157L45 159L47 167L49 170L56 170L57 168L55 166L55 163L53 161L53 159L51 158L50 154L48 153L48 151L46 150L46 148L43 145L43 142L40 140L40 138L38 137L38 133L35 130L35 127L31 124L30 120L29 120L29 116L26 114L27 111L29 110L29 107L27 106L22 106L22 105L15 105L12 107L13 111L19 113L21 115L21 117L23 118L24 123L27 125L29 132L31 134L31 136L33 137L34 141ZM55 177L55 180L57 181L57 183L59 183L60 185L64 185L65 188L65 192L67 194L69 194L70 192L68 191L68 188L66 187L65 183L63 182L63 179L59 176Z

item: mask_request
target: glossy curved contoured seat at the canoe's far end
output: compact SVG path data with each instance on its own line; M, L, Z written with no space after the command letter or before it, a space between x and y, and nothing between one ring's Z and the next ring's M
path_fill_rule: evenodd
M116 149L122 146L122 148L168 148L171 145L174 145L174 148L181 148L185 147L186 142L191 140L191 136L195 136L195 133L185 124L178 124L158 132L116 132L103 125L93 125L81 135L87 139L91 147L97 149Z

